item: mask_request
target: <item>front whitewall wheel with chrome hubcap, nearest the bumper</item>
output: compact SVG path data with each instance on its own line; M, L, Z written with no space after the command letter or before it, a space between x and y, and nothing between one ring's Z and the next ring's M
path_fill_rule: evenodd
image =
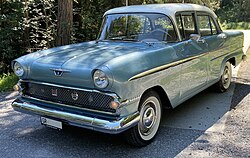
M143 95L140 105L140 121L125 132L125 138L131 145L143 147L155 138L161 121L161 100L154 91Z

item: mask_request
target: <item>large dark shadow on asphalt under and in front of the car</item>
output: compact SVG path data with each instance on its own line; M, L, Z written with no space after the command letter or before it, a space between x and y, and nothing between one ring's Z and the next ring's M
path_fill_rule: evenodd
M13 97L0 107L0 120L5 122L1 123L0 137L11 138L2 145L26 157L175 157L196 141L207 144L207 140L200 142L199 137L228 112L232 91L233 88L218 95L207 89L171 112L164 111L156 139L143 148L128 145L123 134L72 126L64 126L61 131L46 128L40 125L39 117L13 111L10 106ZM8 157L12 154L9 150L0 149L0 153Z

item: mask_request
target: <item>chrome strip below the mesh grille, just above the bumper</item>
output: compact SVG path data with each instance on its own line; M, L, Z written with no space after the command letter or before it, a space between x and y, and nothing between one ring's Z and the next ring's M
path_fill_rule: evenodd
M27 96L27 95L22 95L22 98L24 98L24 99L31 99L31 100L39 101L39 102L42 102L42 103L52 104L52 105L53 104L54 105L59 105L59 106L68 107L68 108L72 108L72 109L79 109L79 110L96 112L96 113L101 113L101 114L108 114L108 115L117 115L117 113L100 111L100 110L94 110L94 109L88 109L88 108L81 108L81 107L77 107L77 106L70 106L70 105L67 105L67 104L62 104L62 103L56 103L56 102L52 102L52 101L42 100L42 99L34 98L34 97L31 97L31 96Z

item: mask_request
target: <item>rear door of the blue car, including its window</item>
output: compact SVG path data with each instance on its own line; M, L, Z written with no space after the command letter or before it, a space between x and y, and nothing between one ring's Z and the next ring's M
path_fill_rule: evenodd
M220 31L215 19L211 15L205 12L198 12L197 19L201 38L208 43L208 80L212 84L220 75L222 57L227 52L227 48L224 46L227 36Z

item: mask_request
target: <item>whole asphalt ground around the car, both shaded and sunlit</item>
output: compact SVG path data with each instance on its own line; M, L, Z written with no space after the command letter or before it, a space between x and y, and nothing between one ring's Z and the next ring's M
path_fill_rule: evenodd
M164 112L157 138L144 148L127 145L123 135L46 128L39 117L13 111L15 93L1 93L0 157L250 157L249 69L250 59L228 92L207 89Z

